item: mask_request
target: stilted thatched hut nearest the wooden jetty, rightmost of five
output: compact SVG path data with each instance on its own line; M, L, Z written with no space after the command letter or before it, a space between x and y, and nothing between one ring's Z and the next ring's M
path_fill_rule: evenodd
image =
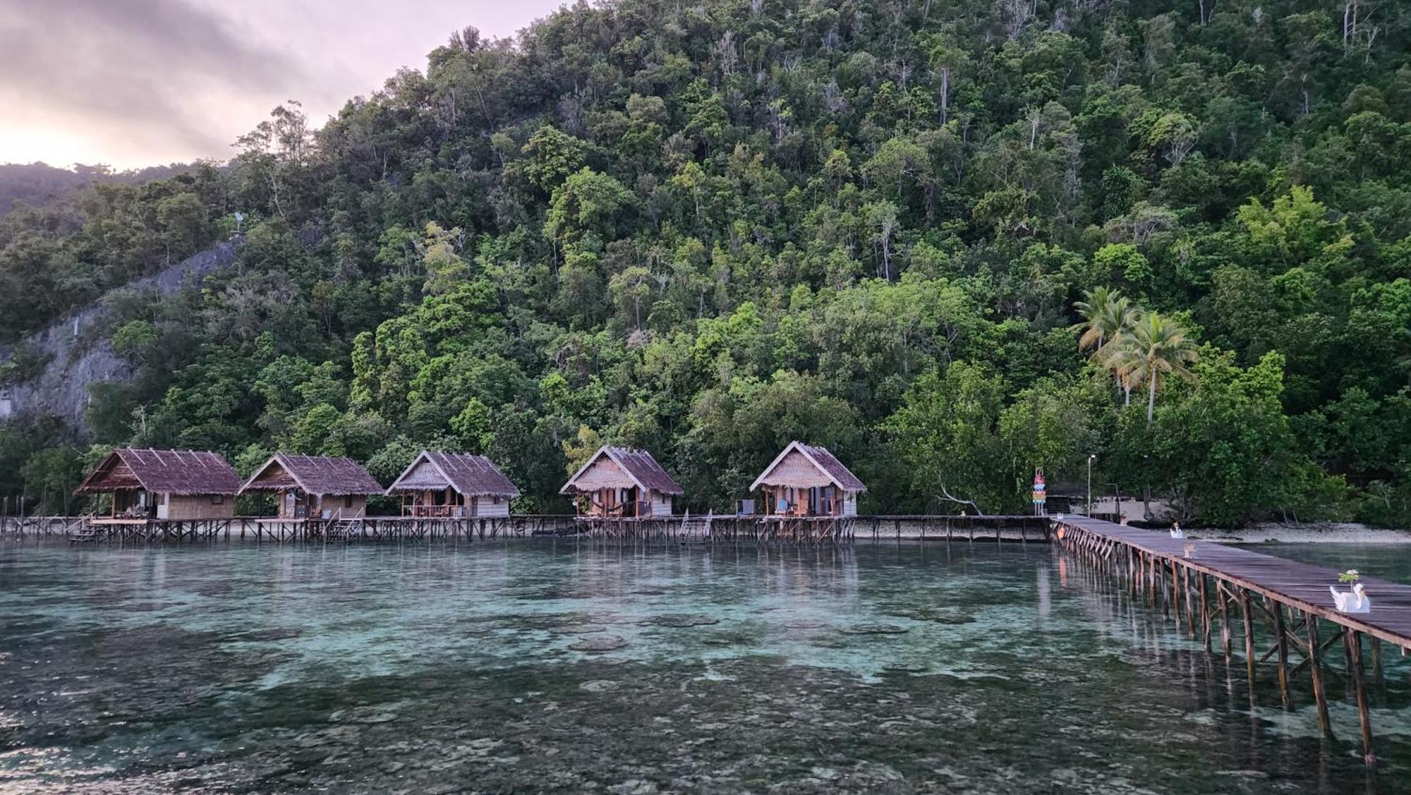
M765 516L856 516L858 495L868 488L827 447L792 441L755 482Z

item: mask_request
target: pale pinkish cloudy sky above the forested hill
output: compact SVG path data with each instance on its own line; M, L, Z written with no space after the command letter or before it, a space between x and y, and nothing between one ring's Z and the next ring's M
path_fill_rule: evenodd
M0 162L226 159L295 99L322 121L466 25L563 0L0 0Z

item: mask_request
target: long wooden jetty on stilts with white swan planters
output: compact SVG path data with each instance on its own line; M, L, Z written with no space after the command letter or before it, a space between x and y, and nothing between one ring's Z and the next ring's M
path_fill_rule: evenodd
M1057 517L1054 527L1062 548L1125 579L1133 595L1160 605L1188 637L1199 637L1206 651L1219 631L1222 651L1230 658L1240 637L1252 699L1259 662L1273 662L1284 709L1292 709L1292 682L1307 671L1328 739L1332 727L1324 682L1328 674L1339 672L1329 657L1339 657L1333 648L1340 644L1340 674L1356 695L1363 760L1376 764L1367 681L1383 678L1383 644L1411 655L1411 586L1363 578L1371 612L1343 613L1328 588L1346 585L1331 568L1082 516ZM1263 644L1268 646L1261 650Z

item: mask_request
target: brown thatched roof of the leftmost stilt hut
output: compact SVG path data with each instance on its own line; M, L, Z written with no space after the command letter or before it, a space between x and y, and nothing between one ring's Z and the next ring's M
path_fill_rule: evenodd
M75 493L127 489L234 496L240 476L219 452L123 448L109 452Z

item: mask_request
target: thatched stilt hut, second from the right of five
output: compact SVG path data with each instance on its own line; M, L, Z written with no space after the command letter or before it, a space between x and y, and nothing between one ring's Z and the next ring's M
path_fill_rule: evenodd
M660 519L672 516L672 498L686 492L650 452L604 445L559 493L574 498L579 516Z

